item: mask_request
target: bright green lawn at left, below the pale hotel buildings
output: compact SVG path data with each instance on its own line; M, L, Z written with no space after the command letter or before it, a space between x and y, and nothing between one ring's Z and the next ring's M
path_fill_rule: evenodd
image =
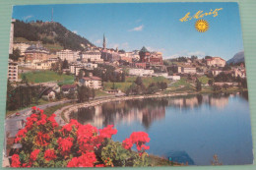
M69 82L70 84L74 83L74 77L69 75L58 75L53 71L33 71L24 73L28 79L29 83L46 83L46 82Z

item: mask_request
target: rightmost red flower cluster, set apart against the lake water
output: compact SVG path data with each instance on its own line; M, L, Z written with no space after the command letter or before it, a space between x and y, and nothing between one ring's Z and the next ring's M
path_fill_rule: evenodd
M150 149L150 146L145 145L146 142L150 142L149 135L145 132L134 132L131 134L129 139L123 141L123 147L125 149L131 149L135 143L138 151L145 151Z

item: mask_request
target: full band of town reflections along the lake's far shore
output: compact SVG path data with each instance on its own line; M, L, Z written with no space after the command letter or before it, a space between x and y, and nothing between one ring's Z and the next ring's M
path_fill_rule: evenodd
M139 122L146 129L149 129L153 122L164 119L166 107L192 110L206 104L222 110L228 104L229 98L235 95L248 99L247 92L134 99L80 108L78 112L73 112L70 118L77 119L81 124L90 123L98 128L106 125L130 125L133 122Z

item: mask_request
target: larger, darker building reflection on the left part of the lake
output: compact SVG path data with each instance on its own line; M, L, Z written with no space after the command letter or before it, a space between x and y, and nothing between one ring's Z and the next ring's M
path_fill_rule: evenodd
M166 99L147 99L117 101L104 103L95 107L80 108L70 115L82 124L92 124L98 128L106 125L127 124L139 122L149 128L154 121L164 119Z

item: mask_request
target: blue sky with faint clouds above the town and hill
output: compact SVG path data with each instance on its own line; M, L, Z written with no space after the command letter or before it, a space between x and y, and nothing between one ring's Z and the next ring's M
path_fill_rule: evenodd
M223 8L218 16L204 16L209 29L199 32L198 19L180 22L188 12L209 13ZM237 3L112 3L14 6L13 18L22 21L58 22L86 37L96 46L162 52L163 58L197 55L220 56L225 60L243 50Z

